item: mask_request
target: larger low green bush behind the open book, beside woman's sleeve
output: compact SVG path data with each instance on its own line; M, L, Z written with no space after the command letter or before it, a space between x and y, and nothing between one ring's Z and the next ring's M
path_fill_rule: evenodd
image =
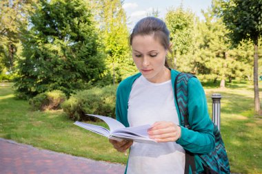
M109 85L78 91L63 102L62 109L71 120L96 120L85 116L87 113L115 118L116 90L117 85Z

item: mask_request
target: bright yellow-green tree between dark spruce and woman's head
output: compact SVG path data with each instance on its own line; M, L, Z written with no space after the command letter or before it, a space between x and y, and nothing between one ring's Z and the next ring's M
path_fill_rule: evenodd
M91 1L97 20L97 28L103 44L105 64L111 82L119 83L123 78L137 71L128 46L128 27L125 11L120 0Z

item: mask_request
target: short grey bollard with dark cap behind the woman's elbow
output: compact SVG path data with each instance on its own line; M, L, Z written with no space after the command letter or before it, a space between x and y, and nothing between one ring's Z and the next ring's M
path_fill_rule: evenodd
M220 130L220 114L221 114L221 104L220 100L222 98L221 94L212 94L212 122L216 124L216 126Z

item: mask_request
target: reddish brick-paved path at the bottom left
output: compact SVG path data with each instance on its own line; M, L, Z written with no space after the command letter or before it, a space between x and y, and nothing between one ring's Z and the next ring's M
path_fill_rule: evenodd
M124 173L125 166L34 148L0 138L1 174L112 174Z

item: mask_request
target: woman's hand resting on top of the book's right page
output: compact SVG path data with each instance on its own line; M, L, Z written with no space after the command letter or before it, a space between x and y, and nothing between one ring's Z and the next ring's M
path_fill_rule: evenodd
M148 135L157 142L175 142L181 137L181 127L173 122L155 122Z

